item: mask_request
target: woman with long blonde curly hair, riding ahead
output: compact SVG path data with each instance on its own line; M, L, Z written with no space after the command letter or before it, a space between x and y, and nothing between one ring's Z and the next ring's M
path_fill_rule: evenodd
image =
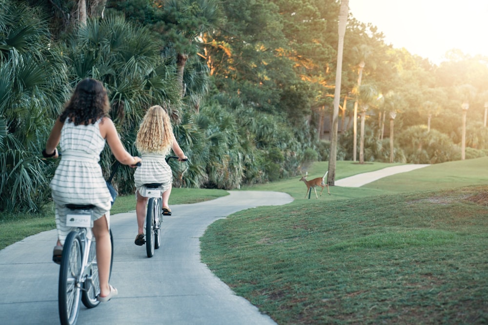
M144 184L163 184L163 215L171 215L168 206L169 195L173 173L166 163L166 155L171 149L178 156L179 161L186 159L183 150L176 141L173 134L173 127L169 115L159 105L151 106L144 116L136 138L136 148L141 153L142 165L134 173L136 186L136 215L137 215L137 236L134 241L136 245L144 245L144 219L147 197L140 194Z

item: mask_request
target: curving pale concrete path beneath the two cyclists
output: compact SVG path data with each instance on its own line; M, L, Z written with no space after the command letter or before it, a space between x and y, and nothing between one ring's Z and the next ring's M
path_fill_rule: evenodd
M152 258L144 246L134 245L135 212L112 216L111 284L119 296L93 309L81 306L78 324L275 325L201 262L199 238L212 222L231 213L284 205L293 198L281 192L229 193L172 206L173 216L163 219L162 247ZM0 251L1 324L59 324L59 266L51 262L55 241L56 230L50 230Z

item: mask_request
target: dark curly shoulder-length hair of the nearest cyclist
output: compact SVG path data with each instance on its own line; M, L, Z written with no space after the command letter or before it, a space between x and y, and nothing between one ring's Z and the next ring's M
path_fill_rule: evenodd
M94 124L100 118L108 116L109 110L107 91L102 82L85 78L76 85L73 95L60 115L60 121L64 123L67 118L68 122L75 125Z

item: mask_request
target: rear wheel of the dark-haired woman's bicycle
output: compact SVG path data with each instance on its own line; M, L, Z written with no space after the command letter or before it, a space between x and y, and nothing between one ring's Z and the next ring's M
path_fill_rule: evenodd
M78 281L81 273L81 240L76 231L71 231L62 250L60 278L58 286L58 306L61 325L76 324L80 310Z

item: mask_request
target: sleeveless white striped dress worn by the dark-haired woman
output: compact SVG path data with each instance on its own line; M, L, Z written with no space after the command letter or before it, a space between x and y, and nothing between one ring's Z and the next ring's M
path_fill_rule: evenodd
M110 227L112 197L98 163L105 147L105 139L100 134L100 121L75 126L66 120L61 129L61 161L50 184L61 244L73 229L66 227L66 204L95 205L93 220L105 215Z

